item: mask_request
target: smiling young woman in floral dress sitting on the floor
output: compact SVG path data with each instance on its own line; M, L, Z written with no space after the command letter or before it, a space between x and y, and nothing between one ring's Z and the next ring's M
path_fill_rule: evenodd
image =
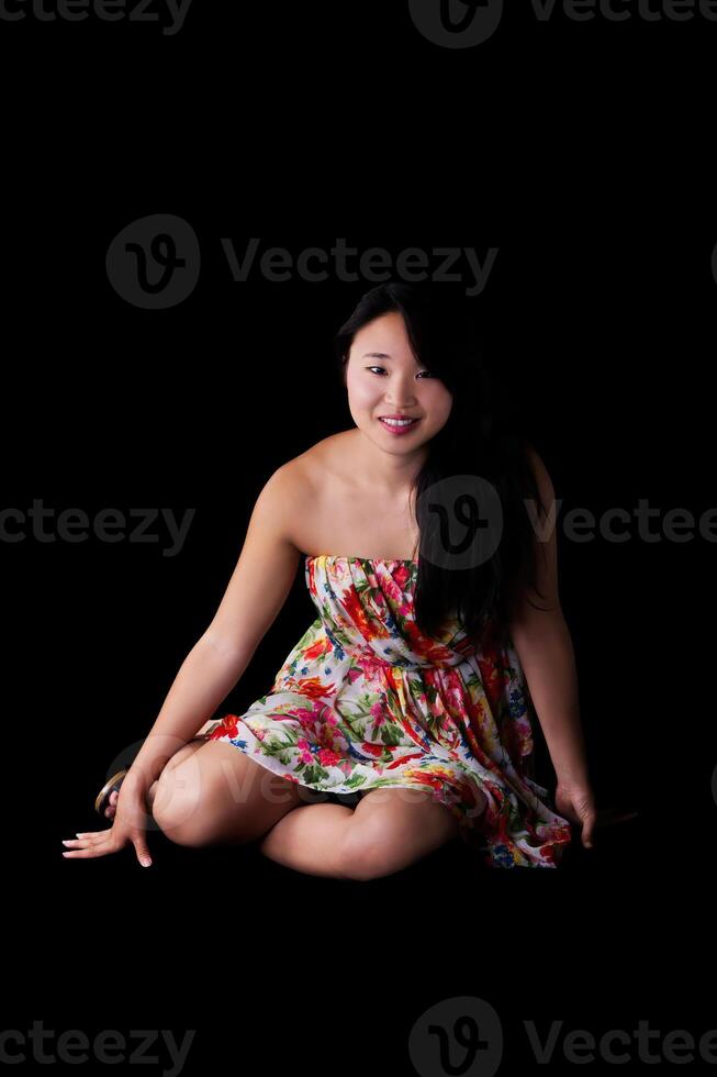
M339 331L356 425L271 475L212 623L98 798L111 829L67 856L132 842L149 863L157 825L183 845L260 841L296 870L367 879L448 841L490 867L556 867L571 823L592 845L552 486L441 289L381 285ZM214 720L302 557L317 619L267 696ZM536 712L552 807L533 778Z

